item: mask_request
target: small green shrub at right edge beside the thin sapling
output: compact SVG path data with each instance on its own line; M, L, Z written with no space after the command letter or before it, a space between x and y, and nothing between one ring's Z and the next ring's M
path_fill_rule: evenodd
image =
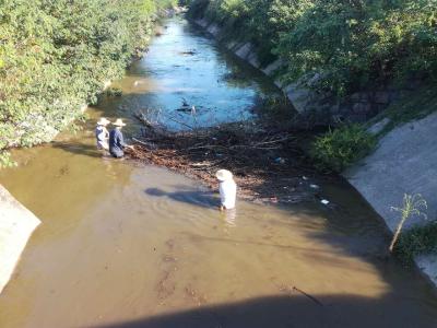
M417 255L437 254L437 223L430 222L402 233L393 253L406 265L412 263Z

